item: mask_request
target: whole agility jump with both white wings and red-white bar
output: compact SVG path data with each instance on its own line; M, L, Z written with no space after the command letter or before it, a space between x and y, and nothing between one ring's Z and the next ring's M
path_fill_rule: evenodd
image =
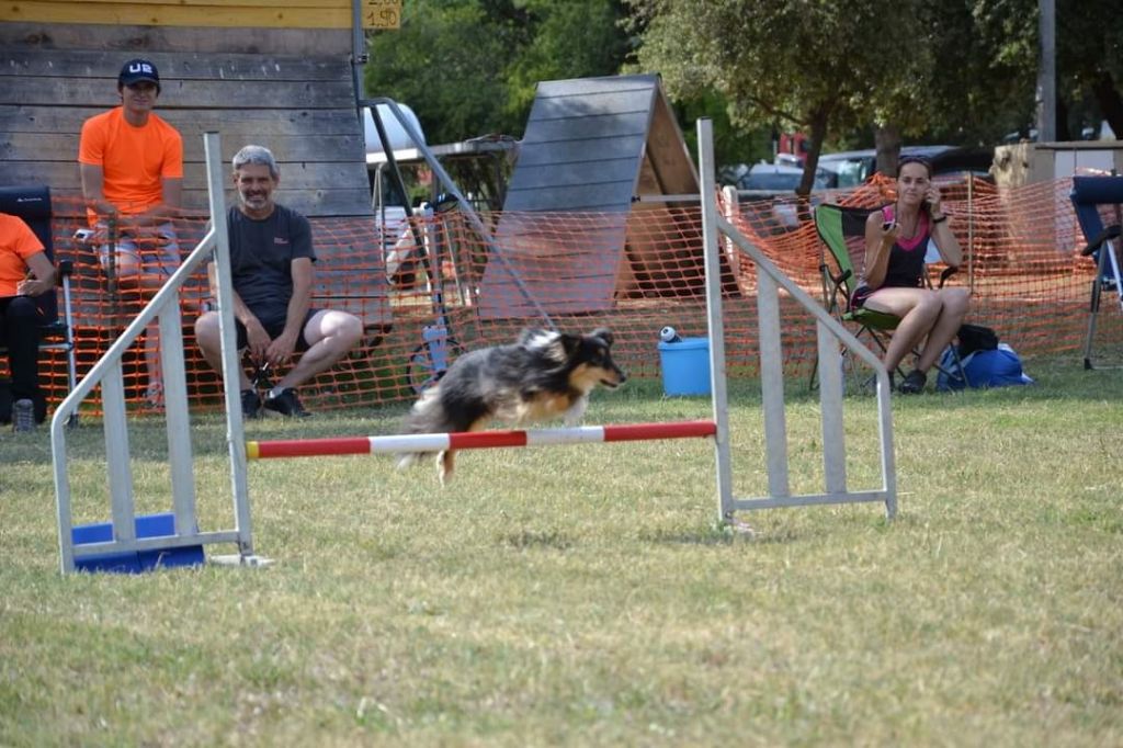
M714 446L715 487L721 521L732 522L734 513L746 510L880 502L888 518L896 514L896 467L893 454L893 420L889 408L888 372L849 330L792 279L776 267L751 241L727 219L718 215L716 184L713 166L713 136L709 120L699 121L699 173L702 203L702 238L705 259L706 322L710 339L710 383L712 420L667 423L631 423L588 426L524 431L473 431L467 434L417 434L401 436L346 437L295 441L249 441L245 439L237 387L237 346L235 340L229 248L227 246L222 179L218 135L207 134L207 171L213 227L163 289L126 328L101 361L60 404L51 423L52 456L57 500L60 562L63 573L95 562L99 557L134 556L136 566L145 568L146 557L158 559L172 550L198 548L208 544L234 544L236 556L212 558L240 565L265 563L254 554L248 498L247 462L271 457L314 455L372 454L383 451L438 451L441 449L482 449L490 447L529 447L603 441L638 441L646 439L712 438ZM764 411L764 443L768 473L768 494L761 498L733 495L732 458L729 440L729 400L725 383L724 325L721 310L721 267L719 246L724 237L725 250L737 249L757 266L757 325L760 345L760 387ZM213 255L218 267L218 302L222 338L222 372L227 418L227 447L230 460L235 526L229 530L200 531L195 513L194 465L190 439L186 398L186 375L182 352L180 289L190 274ZM882 485L865 491L847 486L844 429L842 421L841 376L822 376L819 387L822 419L822 453L824 490L821 493L793 494L788 476L787 426L784 405L783 350L780 345L779 289L815 318L818 353L823 372L838 372L842 357L840 344L851 355L865 362L877 381L878 443L880 446ZM126 349L141 335L145 326L159 320L161 335L174 345L162 347L165 373L165 410L167 412L168 462L172 474L173 512L153 516L158 527L143 527L152 518L135 510L133 475L128 451L128 422L121 362ZM234 383L234 384L231 384ZM107 472L110 487L111 521L98 526L95 537L75 538L72 522L70 478L66 466L65 428L81 401L101 385L104 404ZM200 554L201 555L201 554ZM116 562L115 562L116 563Z

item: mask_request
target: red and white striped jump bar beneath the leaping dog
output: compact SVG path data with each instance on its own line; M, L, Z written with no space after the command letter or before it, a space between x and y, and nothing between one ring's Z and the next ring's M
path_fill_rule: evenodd
M441 451L444 449L537 447L597 441L690 439L694 437L710 437L716 434L716 431L718 427L713 421L670 421L667 423L578 426L564 429L531 429L526 431L465 431L459 434L403 434L396 436L247 441L246 458L266 459L270 457L376 455L382 453Z

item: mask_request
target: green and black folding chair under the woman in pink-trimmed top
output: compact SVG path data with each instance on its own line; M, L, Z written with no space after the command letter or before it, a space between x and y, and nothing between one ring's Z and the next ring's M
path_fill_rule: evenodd
M815 230L819 232L820 238L820 257L819 257L819 271L822 274L823 281L823 302L827 304L828 311L833 314L837 319L843 323L851 323L858 327L856 336L861 339L862 336L867 336L871 339L877 347L880 349L882 355L885 355L887 345L886 341L892 336L893 330L897 328L901 323L901 318L896 314L891 314L888 312L877 311L875 309L867 309L860 307L858 309L850 308L850 297L853 294L855 289L858 288L858 277L853 266L853 253L865 252L866 246L866 219L875 210L880 210L879 208L849 208L844 206L836 204L821 204L815 208ZM830 252L831 257L834 261L834 265L838 268L838 273L831 273L830 265L827 263L825 256L822 254L822 246L825 246ZM934 262L935 258L926 257L926 262ZM939 286L943 288L943 284L949 277L951 277L957 267L947 267L940 273ZM928 281L931 288L931 282ZM962 365L959 362L958 353L956 353L956 347L951 346L952 361L955 362L956 370L953 372L947 371L939 363L935 364L935 368L949 376L958 375L962 377ZM916 352L913 352L914 354ZM847 356L843 359L851 357ZM815 385L815 375L819 371L819 361L815 359L815 365L811 371L811 386ZM897 367L897 375L902 378L904 377L904 372L901 367Z

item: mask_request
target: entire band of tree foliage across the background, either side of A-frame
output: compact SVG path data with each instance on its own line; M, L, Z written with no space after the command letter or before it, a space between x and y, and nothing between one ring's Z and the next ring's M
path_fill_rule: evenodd
M1123 112L1115 4L1057 2L1059 97L1077 126ZM433 143L519 136L538 82L621 70L663 75L687 137L711 117L722 162L767 157L774 129L813 146L869 145L875 126L986 145L1034 116L1037 0L445 0L403 12L401 30L371 36L367 92L413 107Z

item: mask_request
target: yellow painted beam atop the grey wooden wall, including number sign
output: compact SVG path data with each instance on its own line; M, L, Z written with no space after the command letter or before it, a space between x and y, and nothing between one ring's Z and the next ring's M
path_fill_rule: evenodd
M367 28L398 28L401 2L363 0L363 25ZM195 26L249 28L350 28L350 2L345 0L180 0L174 3L52 2L51 0L3 0L0 21L48 24L108 24L117 26Z

